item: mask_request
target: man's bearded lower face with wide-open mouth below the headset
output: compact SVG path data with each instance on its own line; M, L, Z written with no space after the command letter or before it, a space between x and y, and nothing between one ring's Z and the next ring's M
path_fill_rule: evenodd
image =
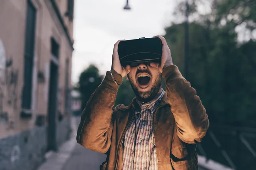
M134 93L141 100L150 101L154 99L161 89L162 74L157 68L150 65L140 64L132 67L128 74Z

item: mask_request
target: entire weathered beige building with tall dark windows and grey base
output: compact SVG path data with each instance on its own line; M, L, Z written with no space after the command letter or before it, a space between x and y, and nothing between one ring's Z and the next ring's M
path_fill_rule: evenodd
M74 0L0 0L0 170L69 138Z

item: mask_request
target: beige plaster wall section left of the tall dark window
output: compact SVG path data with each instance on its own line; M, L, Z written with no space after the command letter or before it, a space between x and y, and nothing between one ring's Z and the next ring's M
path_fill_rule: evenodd
M6 128L19 127L23 87L26 0L13 1L0 1L0 137L7 135Z

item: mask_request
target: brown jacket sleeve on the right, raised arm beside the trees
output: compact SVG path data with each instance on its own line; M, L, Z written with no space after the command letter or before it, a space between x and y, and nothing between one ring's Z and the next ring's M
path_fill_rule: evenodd
M209 127L209 120L196 90L183 78L176 65L164 68L163 78L178 137L189 144L201 142Z

